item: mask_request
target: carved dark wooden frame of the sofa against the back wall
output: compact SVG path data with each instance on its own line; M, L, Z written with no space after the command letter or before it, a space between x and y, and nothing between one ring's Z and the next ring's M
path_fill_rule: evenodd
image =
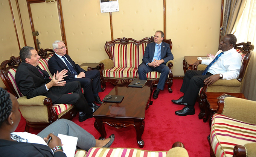
M143 38L141 39L140 41L137 41L133 38L117 38L117 39L114 39L113 41L108 41L106 42L105 44L105 51L106 53L108 54L108 57L109 59L113 60L113 54L111 52L111 47L114 45L114 44L122 44L122 45L127 45L127 44L136 44L136 45L140 45L142 43L151 43L151 42L154 42L154 37L151 36L150 38ZM163 42L166 42L167 44L169 44L170 46L170 49L172 50L172 41L171 39L163 39ZM172 86L172 80L173 80L173 74L172 74L172 66L173 66L173 62L172 60L170 60L169 62L167 62L166 64L168 67L169 67L169 75L168 75L168 78L166 80L165 83L168 84L168 91L170 93L172 93L172 89L171 89L171 86ZM119 80L131 80L131 79L134 79L134 78L113 78L113 77L104 77L104 74L103 74L103 71L105 69L104 67L104 63L100 62L99 63L99 67L100 67L100 75L101 75L101 85L102 85L102 91L104 91L104 89L106 88L106 82L110 82L112 83L113 85L117 85L117 82ZM159 78L155 78L155 79L148 79L148 80L152 80L153 81L153 85L158 85L158 81L159 81Z

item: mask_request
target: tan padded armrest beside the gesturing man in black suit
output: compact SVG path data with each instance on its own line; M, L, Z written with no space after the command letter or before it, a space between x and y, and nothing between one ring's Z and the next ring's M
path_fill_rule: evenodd
M45 106L52 103L52 100L50 98L47 98L46 96L39 95L34 98L27 99L26 96L18 98L18 103L20 106Z

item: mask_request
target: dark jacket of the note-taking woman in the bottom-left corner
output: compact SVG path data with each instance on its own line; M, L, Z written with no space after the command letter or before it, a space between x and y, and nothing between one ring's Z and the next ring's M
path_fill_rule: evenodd
M2 157L67 157L64 152L52 153L47 145L0 139Z

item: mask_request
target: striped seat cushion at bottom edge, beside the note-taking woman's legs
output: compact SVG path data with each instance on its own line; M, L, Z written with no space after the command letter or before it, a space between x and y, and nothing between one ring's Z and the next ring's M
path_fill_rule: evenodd
M88 150L86 157L166 157L167 151L145 151L134 148L98 148Z

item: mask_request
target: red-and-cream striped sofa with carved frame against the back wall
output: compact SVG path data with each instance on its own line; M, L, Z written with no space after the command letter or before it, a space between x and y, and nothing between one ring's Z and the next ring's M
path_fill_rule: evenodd
M171 39L164 39L163 41L168 43L172 49ZM106 42L105 51L109 59L101 60L99 63L102 90L106 88L105 82L111 82L116 85L119 80L139 78L137 70L142 63L145 48L151 42L154 42L153 36L151 38L143 38L140 41L123 37L122 39L117 38ZM170 69L166 83L168 84L168 91L171 93L173 61L167 62L166 66ZM147 78L148 80L153 80L153 85L157 85L160 75L161 73L152 71L147 74Z

